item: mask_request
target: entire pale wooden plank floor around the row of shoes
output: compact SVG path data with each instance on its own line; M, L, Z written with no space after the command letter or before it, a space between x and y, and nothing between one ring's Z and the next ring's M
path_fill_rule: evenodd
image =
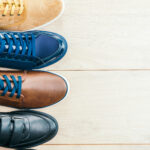
M45 70L66 77L70 93L39 109L59 132L35 149L149 150L150 1L66 0L64 15L42 30L68 40L64 59Z

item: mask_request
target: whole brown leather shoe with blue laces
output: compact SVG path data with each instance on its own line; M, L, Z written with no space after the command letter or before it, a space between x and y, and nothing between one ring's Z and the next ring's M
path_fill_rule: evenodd
M41 108L62 100L68 91L66 81L42 71L0 71L0 105Z

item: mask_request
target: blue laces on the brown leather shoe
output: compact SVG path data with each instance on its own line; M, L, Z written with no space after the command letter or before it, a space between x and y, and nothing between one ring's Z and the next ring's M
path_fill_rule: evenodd
M13 97L15 93L17 93L17 98L20 98L21 95L21 85L22 85L22 78L21 76L18 76L18 81L16 80L16 78L13 75L10 75L14 86L12 87L11 85L11 81L9 80L9 78L7 77L7 75L3 75L3 78L5 81L3 81L0 78L0 90L3 91L3 93L1 94L1 96L5 96L7 92L10 92L10 97ZM5 86L6 83L6 86Z

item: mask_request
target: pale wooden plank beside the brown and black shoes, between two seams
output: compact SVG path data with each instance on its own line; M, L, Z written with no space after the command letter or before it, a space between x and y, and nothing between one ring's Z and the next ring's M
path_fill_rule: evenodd
M71 89L60 103L37 109L59 123L47 144L150 144L150 71L57 73Z

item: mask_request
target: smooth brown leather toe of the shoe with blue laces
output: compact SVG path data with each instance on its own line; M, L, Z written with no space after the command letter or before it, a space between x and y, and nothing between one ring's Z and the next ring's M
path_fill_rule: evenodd
M50 72L30 72L30 80L23 83L24 108L42 108L61 101L68 93L67 81ZM33 83L33 84L30 84ZM30 84L30 86L29 86Z

